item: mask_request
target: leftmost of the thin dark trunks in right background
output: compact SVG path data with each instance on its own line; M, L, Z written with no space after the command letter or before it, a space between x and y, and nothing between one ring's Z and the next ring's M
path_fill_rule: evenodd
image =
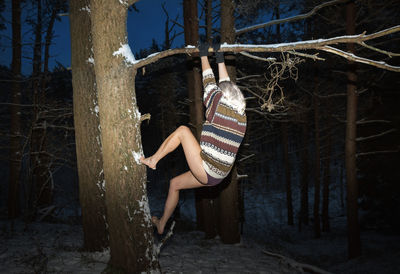
M288 125L282 123L282 146L283 146L283 162L285 167L286 181L286 209L288 225L293 225L293 202L292 202L292 182L291 182L291 164L289 158L289 138Z

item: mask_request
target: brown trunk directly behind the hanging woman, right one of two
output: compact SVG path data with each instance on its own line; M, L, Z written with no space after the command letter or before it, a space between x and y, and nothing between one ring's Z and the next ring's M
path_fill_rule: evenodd
M230 0L221 0L221 43L235 43L235 6ZM236 83L236 64L233 54L225 54L226 69L229 78ZM221 241L226 244L240 242L240 207L239 207L239 184L237 179L236 164L232 168L223 184L219 196L219 234Z

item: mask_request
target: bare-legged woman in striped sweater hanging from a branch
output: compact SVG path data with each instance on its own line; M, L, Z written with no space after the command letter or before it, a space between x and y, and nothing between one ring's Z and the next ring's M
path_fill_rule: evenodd
M155 154L140 159L149 168L156 169L158 161L182 145L190 169L170 181L163 216L160 219L152 217L159 234L164 232L165 224L175 210L179 190L215 186L228 176L246 131L246 103L242 92L229 79L224 53L218 51L219 48L219 44L213 46L218 64L217 85L208 62L209 45L199 45L206 107L200 144L188 127L180 126Z

